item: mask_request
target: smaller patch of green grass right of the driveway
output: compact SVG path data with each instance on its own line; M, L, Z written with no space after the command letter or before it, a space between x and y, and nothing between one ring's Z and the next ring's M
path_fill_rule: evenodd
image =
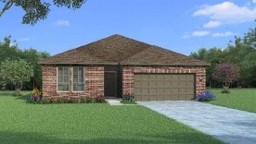
M216 100L209 103L256 113L256 89L229 90L230 93L222 93L222 89L211 89L216 95Z

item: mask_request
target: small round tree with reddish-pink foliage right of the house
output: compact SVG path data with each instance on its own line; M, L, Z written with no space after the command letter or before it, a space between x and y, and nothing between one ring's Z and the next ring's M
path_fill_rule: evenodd
M230 84L237 81L239 76L239 67L235 64L218 64L213 72L213 79L222 82L224 91L227 91Z

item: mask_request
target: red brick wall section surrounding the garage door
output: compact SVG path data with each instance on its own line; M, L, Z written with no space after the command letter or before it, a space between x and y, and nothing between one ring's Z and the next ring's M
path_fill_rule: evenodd
M123 66L122 92L134 93L134 73L170 73L195 74L196 95L206 90L205 67L138 67Z

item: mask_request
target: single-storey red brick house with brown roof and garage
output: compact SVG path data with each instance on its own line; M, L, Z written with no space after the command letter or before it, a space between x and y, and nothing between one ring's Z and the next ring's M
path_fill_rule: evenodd
M192 100L206 89L207 63L112 35L42 60L43 96L122 97L136 101Z

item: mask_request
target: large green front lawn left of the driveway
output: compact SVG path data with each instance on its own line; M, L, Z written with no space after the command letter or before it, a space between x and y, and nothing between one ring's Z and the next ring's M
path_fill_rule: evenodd
M0 91L0 143L222 143L145 107L29 104Z

